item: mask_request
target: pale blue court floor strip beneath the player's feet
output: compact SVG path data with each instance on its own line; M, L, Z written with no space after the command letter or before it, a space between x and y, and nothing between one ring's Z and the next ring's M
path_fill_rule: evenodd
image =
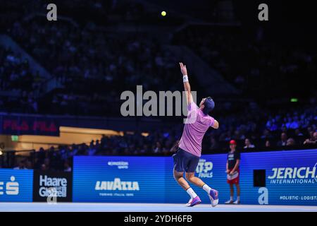
M259 206L161 203L0 203L0 212L317 212L317 206Z

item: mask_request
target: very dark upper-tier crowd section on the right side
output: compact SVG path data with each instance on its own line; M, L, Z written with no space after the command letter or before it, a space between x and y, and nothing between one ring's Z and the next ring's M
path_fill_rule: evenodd
M245 32L235 26L193 25L176 33L173 43L189 47L228 82L254 97L267 88L272 94L290 93L299 86L309 90L316 82L316 42L270 40L261 28ZM300 76L310 79L298 80Z

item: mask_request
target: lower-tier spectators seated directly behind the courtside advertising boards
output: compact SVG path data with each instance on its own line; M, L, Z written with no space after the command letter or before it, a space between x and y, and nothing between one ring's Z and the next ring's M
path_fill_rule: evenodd
M204 153L225 153L228 143L235 139L238 150L281 150L316 147L317 107L293 112L285 111L258 121L237 117L220 119L220 129L211 130L203 141ZM171 155L178 146L182 124L170 129L142 133L125 133L124 136L103 136L101 141L73 145L60 145L38 151L18 161L15 169L35 168L42 170L70 171L74 155Z

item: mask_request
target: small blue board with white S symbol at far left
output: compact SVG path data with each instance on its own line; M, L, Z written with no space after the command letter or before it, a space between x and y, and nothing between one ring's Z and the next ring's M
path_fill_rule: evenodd
M32 194L32 169L0 169L0 202L32 202Z

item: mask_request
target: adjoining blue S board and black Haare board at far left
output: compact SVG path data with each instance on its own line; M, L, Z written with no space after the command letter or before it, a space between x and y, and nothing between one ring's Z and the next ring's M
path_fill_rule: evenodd
M0 169L0 202L46 202L48 197L71 202L72 177L71 172Z

